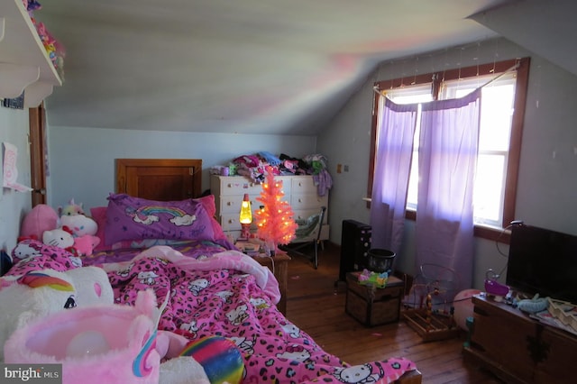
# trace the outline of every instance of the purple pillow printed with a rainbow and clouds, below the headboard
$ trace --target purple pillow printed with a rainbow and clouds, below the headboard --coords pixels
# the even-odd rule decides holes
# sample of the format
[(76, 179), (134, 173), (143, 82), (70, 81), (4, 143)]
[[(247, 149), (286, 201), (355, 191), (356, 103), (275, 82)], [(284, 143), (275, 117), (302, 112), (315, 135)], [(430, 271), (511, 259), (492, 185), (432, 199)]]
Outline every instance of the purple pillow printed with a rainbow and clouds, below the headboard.
[(106, 207), (106, 245), (123, 240), (213, 240), (205, 207), (193, 199), (155, 201), (110, 194)]

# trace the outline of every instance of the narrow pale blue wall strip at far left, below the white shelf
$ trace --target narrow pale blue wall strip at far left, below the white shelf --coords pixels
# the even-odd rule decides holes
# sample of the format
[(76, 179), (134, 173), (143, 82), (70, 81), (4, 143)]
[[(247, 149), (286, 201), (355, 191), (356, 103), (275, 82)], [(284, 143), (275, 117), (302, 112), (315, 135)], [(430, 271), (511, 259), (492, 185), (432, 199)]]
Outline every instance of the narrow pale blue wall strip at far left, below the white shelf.
[[(18, 148), (17, 181), (30, 186), (30, 152), (28, 147), (28, 110), (8, 109), (0, 107), (0, 144), (9, 142)], [(4, 145), (0, 146), (1, 163), (4, 166)], [(0, 167), (0, 179), (4, 178), (3, 167)], [(29, 192), (16, 192), (10, 188), (2, 188), (0, 194), (0, 248), (9, 254), (16, 245), (20, 234), (20, 223), (23, 215), (32, 207), (32, 197)]]

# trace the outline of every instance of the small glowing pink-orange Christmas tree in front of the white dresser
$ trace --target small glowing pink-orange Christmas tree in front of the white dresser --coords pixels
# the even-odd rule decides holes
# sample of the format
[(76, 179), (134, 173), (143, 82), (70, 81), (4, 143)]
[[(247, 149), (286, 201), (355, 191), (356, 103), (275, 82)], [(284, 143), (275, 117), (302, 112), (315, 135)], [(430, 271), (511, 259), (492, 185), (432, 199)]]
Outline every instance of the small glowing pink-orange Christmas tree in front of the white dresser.
[(261, 196), (256, 198), (262, 203), (261, 209), (256, 211), (254, 216), (257, 235), (265, 242), (272, 242), (274, 251), (279, 244), (288, 244), (294, 239), (297, 230), (292, 208), (282, 200), (284, 195), (282, 181), (276, 180), (273, 169), (267, 167)]

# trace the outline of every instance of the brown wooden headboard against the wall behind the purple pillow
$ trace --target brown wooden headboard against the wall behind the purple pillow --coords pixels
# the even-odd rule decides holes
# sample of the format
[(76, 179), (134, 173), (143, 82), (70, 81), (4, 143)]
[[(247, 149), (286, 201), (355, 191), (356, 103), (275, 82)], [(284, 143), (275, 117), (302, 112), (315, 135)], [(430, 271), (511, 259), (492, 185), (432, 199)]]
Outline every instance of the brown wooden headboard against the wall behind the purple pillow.
[(116, 193), (169, 201), (200, 197), (202, 160), (116, 159)]

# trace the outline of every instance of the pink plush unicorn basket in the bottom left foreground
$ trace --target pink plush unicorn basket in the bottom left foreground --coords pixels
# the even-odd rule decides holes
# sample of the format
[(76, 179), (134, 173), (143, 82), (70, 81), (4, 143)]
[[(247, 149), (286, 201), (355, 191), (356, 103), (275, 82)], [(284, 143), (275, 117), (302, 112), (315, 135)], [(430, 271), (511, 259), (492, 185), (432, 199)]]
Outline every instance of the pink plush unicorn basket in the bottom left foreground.
[(61, 363), (63, 383), (158, 383), (158, 310), (151, 290), (134, 306), (89, 306), (18, 329), (5, 343), (7, 363)]

